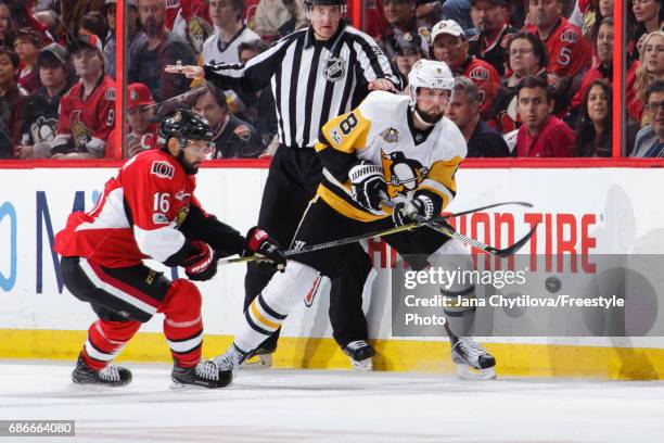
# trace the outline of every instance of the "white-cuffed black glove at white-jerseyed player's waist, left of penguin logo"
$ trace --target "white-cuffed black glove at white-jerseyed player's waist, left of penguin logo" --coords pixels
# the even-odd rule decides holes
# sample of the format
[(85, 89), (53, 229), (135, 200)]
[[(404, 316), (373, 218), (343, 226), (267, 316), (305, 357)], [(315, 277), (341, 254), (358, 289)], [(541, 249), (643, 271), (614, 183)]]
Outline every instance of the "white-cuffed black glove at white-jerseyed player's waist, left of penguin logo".
[(380, 166), (362, 160), (348, 170), (353, 186), (353, 200), (371, 214), (381, 215), (381, 200), (387, 194), (387, 185)]

